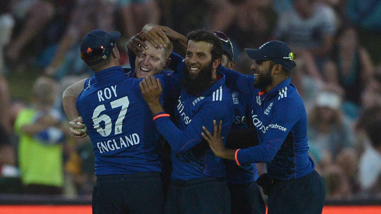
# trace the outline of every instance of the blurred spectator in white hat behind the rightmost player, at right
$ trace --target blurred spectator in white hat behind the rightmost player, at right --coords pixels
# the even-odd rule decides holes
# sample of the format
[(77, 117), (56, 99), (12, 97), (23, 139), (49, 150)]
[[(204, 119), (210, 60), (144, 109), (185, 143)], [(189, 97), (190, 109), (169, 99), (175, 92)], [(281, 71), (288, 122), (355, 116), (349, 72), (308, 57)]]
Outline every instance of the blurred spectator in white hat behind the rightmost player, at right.
[(341, 111), (341, 94), (341, 89), (333, 86), (323, 89), (309, 112), (309, 145), (315, 147), (312, 156), (323, 166), (330, 164), (341, 149), (352, 146), (350, 125)]

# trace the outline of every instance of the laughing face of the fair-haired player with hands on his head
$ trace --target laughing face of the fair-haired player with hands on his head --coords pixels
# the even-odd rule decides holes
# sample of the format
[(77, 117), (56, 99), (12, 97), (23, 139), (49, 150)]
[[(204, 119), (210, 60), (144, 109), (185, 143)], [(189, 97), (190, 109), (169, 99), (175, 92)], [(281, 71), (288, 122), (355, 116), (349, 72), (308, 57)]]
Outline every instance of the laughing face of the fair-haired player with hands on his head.
[(165, 50), (163, 48), (155, 48), (149, 42), (146, 42), (148, 50), (143, 57), (136, 56), (136, 78), (145, 78), (148, 75), (155, 75), (161, 73), (166, 59)]

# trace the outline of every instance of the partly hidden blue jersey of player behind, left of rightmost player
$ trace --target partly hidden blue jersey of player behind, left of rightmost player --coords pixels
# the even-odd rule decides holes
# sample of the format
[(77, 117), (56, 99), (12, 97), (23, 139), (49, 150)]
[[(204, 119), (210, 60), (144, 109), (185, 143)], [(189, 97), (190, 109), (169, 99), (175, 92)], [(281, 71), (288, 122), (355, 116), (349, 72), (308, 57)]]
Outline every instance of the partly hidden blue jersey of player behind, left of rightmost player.
[[(228, 89), (232, 94), (234, 104), (234, 122), (233, 129), (247, 129), (251, 125), (251, 101), (252, 97), (238, 93), (232, 89)], [(239, 149), (227, 146), (228, 149)], [(226, 181), (229, 184), (242, 184), (254, 182), (258, 179), (258, 172), (255, 163), (242, 164), (238, 166), (235, 161), (225, 160)]]

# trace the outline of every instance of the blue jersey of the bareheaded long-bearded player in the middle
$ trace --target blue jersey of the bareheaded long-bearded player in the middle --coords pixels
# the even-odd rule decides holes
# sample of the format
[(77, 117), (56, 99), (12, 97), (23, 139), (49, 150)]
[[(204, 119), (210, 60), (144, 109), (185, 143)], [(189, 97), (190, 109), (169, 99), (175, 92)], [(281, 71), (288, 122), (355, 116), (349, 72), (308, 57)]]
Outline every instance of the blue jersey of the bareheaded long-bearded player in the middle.
[[(171, 58), (176, 61), (179, 56), (173, 57), (172, 54)], [(184, 60), (177, 62), (177, 66), (171, 69), (182, 72)], [(189, 95), (185, 90), (181, 90), (174, 115), (176, 125), (168, 117), (155, 120), (158, 132), (171, 145), (171, 178), (174, 180), (226, 175), (223, 160), (215, 157), (201, 136), (202, 126), (213, 132), (213, 120), (223, 121), (222, 135), (226, 136), (234, 119), (232, 96), (224, 85), (224, 75), (219, 73), (219, 77), (198, 96)]]

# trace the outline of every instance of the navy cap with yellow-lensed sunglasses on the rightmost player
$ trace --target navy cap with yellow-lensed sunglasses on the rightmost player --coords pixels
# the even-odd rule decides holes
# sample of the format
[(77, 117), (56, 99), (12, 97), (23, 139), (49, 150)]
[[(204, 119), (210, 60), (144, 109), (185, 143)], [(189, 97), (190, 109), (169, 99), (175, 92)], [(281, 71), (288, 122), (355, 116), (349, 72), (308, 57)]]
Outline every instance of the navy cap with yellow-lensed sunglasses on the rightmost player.
[(276, 64), (282, 65), (284, 70), (290, 72), (295, 66), (295, 54), (287, 43), (272, 40), (264, 43), (258, 49), (245, 49), (247, 55), (254, 60), (268, 61), (272, 60)]

